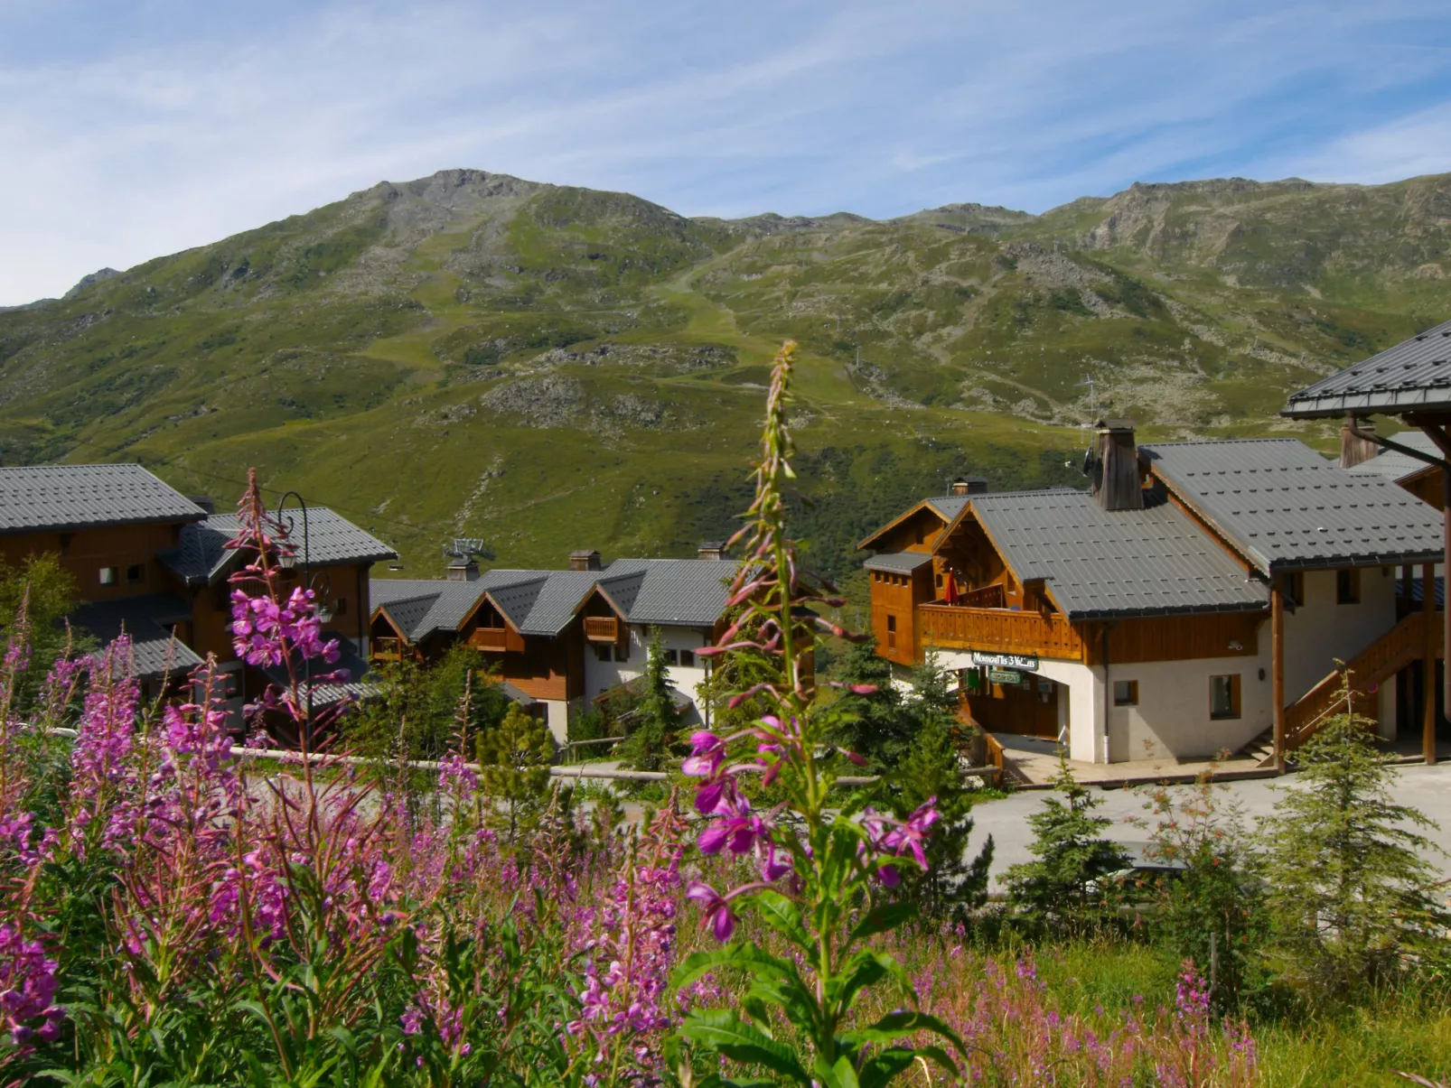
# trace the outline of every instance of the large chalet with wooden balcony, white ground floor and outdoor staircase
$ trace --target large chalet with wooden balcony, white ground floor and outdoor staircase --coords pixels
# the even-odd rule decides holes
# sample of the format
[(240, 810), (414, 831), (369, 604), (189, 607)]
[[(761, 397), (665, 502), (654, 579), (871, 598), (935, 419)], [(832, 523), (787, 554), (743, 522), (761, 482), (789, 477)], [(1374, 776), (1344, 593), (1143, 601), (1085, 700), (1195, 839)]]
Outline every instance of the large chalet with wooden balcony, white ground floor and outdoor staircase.
[(1383, 730), (1405, 721), (1419, 689), (1386, 680), (1428, 650), (1396, 574), (1438, 553), (1426, 503), (1294, 440), (1140, 447), (1126, 421), (1087, 469), (1084, 492), (958, 487), (862, 541), (878, 653), (936, 651), (972, 720), (1075, 760), (1283, 756), (1335, 659)]

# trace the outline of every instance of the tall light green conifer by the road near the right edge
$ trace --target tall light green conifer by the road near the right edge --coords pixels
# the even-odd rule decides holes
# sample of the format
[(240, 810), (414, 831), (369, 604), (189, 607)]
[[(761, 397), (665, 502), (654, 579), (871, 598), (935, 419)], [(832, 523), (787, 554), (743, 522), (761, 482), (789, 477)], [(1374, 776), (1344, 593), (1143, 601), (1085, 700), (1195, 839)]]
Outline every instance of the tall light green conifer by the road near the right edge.
[(1392, 799), (1394, 770), (1371, 744), (1374, 722), (1345, 711), (1299, 751), (1294, 789), (1264, 830), (1268, 908), (1281, 976), (1320, 994), (1349, 994), (1393, 976), (1439, 939), (1448, 918), (1435, 847), (1412, 828), (1436, 824)]

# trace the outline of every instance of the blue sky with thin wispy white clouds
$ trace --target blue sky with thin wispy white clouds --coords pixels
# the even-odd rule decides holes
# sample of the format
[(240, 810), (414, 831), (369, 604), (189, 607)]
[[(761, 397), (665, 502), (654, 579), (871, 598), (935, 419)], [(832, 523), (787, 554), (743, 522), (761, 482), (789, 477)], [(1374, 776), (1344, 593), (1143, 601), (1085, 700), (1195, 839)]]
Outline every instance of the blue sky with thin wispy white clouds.
[(472, 167), (683, 215), (1451, 171), (1445, 0), (0, 0), (0, 305)]

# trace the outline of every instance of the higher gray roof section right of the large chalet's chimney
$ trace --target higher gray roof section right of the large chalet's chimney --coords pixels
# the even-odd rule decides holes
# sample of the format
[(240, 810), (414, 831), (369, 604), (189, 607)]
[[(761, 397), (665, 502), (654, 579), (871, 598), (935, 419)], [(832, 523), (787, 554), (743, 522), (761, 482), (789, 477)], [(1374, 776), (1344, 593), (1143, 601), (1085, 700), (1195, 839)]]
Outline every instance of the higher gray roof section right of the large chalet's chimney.
[(1351, 474), (1294, 438), (1139, 447), (1180, 499), (1261, 572), (1425, 563), (1441, 514), (1373, 474)]

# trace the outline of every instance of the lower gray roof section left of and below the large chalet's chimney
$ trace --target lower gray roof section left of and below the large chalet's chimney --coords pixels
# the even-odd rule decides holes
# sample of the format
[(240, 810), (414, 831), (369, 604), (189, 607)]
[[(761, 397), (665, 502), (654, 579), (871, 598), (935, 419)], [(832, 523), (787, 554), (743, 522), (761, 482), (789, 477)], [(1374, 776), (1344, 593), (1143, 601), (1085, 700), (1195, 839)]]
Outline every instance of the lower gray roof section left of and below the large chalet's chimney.
[(1207, 532), (1168, 502), (1104, 511), (1087, 492), (1052, 489), (972, 496), (972, 511), (1024, 582), (1043, 579), (1072, 619), (1265, 606)]

